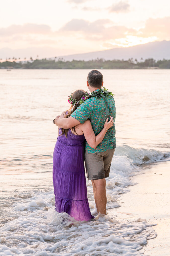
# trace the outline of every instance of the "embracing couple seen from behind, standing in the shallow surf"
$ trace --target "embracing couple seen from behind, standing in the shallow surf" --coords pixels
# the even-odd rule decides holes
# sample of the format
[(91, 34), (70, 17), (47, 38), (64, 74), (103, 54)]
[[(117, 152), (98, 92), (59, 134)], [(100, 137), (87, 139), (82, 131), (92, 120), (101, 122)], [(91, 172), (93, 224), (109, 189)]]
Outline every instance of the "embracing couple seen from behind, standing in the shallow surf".
[(58, 139), (53, 153), (55, 209), (75, 220), (94, 218), (89, 209), (85, 168), (93, 185), (97, 212), (106, 215), (106, 180), (116, 148), (116, 108), (113, 94), (97, 70), (89, 72), (87, 87), (69, 96), (71, 107), (57, 116)]

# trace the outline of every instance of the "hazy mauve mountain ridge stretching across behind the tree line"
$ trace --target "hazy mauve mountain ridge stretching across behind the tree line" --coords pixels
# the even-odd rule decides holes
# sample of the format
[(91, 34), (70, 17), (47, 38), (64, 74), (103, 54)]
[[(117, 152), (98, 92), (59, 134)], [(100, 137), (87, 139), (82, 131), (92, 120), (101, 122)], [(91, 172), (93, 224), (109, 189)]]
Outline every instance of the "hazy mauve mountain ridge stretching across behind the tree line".
[[(76, 51), (76, 49), (74, 49)], [(0, 49), (0, 58), (5, 59), (12, 59), (13, 57), (17, 57), (17, 61), (24, 60), (27, 57), (27, 60), (30, 60), (30, 57), (33, 59), (39, 56), (39, 59), (51, 59), (57, 60), (58, 58), (63, 58), (64, 60), (72, 61), (74, 60), (95, 60), (97, 58), (104, 59), (104, 60), (128, 60), (133, 58), (134, 60), (137, 59), (138, 61), (143, 58), (143, 60), (148, 58), (153, 58), (156, 61), (162, 59), (170, 59), (170, 41), (155, 41), (150, 42), (147, 44), (136, 45), (131, 47), (120, 47), (120, 48), (113, 48), (110, 50), (103, 50), (103, 51), (96, 51), (96, 52), (87, 52), (83, 54), (72, 54), (67, 55), (67, 50), (62, 54), (64, 51), (51, 48), (51, 47), (30, 47), (24, 49), (10, 49), (10, 48), (1, 48)], [(58, 56), (54, 58), (54, 56)]]

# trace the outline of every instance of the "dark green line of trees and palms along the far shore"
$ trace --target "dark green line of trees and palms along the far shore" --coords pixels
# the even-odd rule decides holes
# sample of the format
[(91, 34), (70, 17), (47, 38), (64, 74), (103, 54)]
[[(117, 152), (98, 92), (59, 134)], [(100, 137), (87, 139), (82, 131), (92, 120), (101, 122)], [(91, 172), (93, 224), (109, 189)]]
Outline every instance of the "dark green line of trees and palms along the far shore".
[(96, 59), (89, 61), (65, 61), (64, 59), (56, 58), (33, 60), (31, 61), (5, 61), (0, 62), (0, 68), (14, 68), (14, 69), (170, 69), (170, 60), (158, 60), (141, 58), (140, 61), (137, 59), (129, 60), (104, 60)]

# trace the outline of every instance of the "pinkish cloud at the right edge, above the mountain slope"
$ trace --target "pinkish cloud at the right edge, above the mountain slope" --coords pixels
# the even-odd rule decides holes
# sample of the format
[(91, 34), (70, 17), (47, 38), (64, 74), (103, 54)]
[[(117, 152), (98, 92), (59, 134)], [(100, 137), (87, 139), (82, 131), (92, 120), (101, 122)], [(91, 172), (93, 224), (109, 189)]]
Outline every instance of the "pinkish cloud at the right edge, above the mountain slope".
[(139, 30), (140, 36), (156, 36), (160, 40), (170, 40), (170, 17), (148, 19), (145, 28)]

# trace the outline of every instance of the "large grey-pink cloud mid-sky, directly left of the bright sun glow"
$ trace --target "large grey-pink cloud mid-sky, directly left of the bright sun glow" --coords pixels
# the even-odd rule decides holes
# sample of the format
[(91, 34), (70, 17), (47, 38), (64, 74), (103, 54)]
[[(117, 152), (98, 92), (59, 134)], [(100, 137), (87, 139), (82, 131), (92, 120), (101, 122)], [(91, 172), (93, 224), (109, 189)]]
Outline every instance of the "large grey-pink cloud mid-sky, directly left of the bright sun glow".
[(72, 19), (60, 29), (60, 32), (66, 31), (82, 33), (88, 40), (116, 39), (137, 34), (135, 29), (114, 26), (114, 23), (109, 19), (100, 19), (91, 23), (83, 19)]

